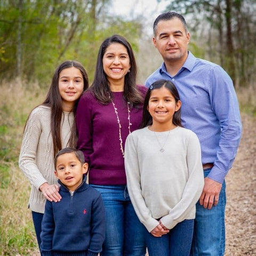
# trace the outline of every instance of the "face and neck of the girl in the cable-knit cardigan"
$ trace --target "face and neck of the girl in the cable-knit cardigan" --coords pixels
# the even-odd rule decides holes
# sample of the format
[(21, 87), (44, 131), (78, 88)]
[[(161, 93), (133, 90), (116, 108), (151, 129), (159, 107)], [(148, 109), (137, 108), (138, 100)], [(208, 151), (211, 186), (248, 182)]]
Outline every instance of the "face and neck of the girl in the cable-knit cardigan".
[(65, 68), (59, 75), (59, 91), (62, 109), (71, 111), (84, 89), (84, 79), (78, 68)]

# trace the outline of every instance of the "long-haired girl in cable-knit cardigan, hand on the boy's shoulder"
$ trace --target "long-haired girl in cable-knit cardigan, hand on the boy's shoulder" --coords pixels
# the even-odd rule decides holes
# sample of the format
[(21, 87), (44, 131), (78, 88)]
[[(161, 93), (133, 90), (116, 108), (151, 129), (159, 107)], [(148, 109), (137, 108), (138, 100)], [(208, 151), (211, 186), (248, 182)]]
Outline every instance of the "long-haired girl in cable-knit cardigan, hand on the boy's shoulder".
[(25, 126), (19, 166), (31, 183), (29, 208), (32, 211), (38, 246), (46, 199), (61, 199), (54, 175), (54, 156), (67, 146), (76, 147), (74, 117), (77, 102), (88, 88), (84, 67), (65, 61), (55, 70), (45, 101), (34, 108)]

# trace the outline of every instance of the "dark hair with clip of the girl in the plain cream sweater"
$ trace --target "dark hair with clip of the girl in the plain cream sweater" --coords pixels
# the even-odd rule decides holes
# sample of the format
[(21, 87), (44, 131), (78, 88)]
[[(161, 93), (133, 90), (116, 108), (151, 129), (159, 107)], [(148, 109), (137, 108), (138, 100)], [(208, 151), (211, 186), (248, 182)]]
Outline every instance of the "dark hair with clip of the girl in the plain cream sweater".
[[(176, 86), (171, 81), (165, 80), (165, 79), (159, 79), (156, 82), (154, 82), (153, 84), (151, 84), (149, 86), (148, 91), (145, 96), (144, 105), (143, 105), (143, 116), (142, 116), (142, 122), (141, 122), (140, 128), (143, 128), (143, 127), (153, 124), (153, 119), (148, 111), (148, 103), (149, 103), (151, 91), (153, 91), (155, 89), (160, 89), (162, 87), (165, 87), (166, 89), (168, 89), (170, 91), (170, 93), (173, 95), (176, 103), (180, 100), (179, 92), (178, 92)], [(172, 118), (172, 123), (174, 125), (183, 127), (181, 124), (180, 116), (181, 116), (181, 108), (174, 113), (173, 118)]]

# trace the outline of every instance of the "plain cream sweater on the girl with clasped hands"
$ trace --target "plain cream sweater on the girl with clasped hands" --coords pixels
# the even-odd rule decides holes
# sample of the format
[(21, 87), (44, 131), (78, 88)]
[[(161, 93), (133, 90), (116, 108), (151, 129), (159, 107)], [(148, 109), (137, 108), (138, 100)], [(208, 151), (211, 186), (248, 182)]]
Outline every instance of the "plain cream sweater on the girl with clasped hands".
[[(145, 127), (132, 132), (125, 143), (129, 195), (149, 232), (159, 224), (157, 219), (169, 229), (194, 219), (204, 185), (196, 134), (179, 126), (168, 133), (154, 133)], [(165, 151), (161, 152), (163, 145)]]

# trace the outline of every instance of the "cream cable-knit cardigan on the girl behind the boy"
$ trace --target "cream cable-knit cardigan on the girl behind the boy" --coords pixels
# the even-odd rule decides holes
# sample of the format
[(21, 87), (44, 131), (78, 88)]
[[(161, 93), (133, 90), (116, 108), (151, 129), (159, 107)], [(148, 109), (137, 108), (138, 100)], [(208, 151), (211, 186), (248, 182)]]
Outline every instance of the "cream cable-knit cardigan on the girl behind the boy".
[[(68, 146), (73, 122), (73, 113), (63, 112), (61, 119), (63, 148)], [(31, 183), (28, 207), (34, 212), (44, 213), (46, 198), (39, 187), (45, 182), (50, 185), (57, 184), (54, 175), (50, 107), (38, 106), (31, 112), (23, 135), (19, 166)]]

